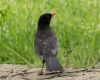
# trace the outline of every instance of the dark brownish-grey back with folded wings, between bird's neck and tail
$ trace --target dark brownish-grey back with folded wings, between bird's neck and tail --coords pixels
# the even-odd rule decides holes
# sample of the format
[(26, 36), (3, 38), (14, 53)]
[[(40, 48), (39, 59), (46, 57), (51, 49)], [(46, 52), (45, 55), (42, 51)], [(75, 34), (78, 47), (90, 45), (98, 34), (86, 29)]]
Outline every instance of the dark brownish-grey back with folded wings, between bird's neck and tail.
[(58, 41), (55, 33), (51, 30), (37, 30), (35, 35), (35, 49), (38, 55), (52, 56), (56, 55), (58, 49)]

